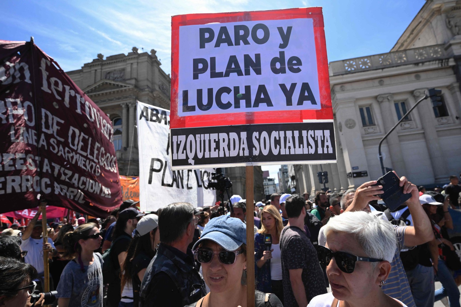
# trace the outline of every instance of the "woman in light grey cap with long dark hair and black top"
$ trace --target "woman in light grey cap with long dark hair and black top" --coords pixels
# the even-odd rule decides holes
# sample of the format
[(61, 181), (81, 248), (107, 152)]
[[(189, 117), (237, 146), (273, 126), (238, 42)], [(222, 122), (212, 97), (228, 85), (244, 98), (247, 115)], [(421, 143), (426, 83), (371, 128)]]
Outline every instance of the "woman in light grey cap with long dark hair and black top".
[[(159, 217), (156, 214), (143, 216), (136, 226), (135, 233), (122, 266), (122, 300), (119, 307), (139, 306), (141, 282), (160, 243)], [(131, 293), (127, 292), (128, 289), (132, 289)], [(128, 295), (132, 297), (131, 300), (126, 298)]]

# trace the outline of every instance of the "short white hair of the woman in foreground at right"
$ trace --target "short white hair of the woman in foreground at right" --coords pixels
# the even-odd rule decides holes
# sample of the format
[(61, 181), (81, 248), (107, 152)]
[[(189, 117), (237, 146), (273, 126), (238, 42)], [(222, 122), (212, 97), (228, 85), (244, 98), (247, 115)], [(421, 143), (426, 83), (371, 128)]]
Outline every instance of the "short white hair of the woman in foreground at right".
[[(381, 215), (365, 211), (335, 215), (324, 226), (325, 237), (331, 231), (354, 234), (367, 257), (391, 262), (396, 254), (397, 237), (392, 224)], [(372, 264), (376, 266), (376, 262)]]

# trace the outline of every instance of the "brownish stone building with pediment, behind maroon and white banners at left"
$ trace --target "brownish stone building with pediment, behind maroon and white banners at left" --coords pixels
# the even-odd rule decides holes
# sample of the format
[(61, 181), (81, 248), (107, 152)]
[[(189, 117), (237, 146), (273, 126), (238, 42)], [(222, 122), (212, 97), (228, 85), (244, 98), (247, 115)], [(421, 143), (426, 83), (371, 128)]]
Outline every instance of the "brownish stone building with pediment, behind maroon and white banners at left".
[[(127, 55), (121, 53), (104, 59), (98, 54), (81, 69), (66, 72), (112, 120), (120, 175), (139, 175), (136, 100), (170, 110), (171, 78), (160, 68), (155, 53), (154, 49), (148, 53), (133, 47)], [(223, 172), (233, 183), (231, 193), (245, 198), (245, 168), (224, 168)], [(263, 197), (262, 170), (254, 167), (254, 198)]]

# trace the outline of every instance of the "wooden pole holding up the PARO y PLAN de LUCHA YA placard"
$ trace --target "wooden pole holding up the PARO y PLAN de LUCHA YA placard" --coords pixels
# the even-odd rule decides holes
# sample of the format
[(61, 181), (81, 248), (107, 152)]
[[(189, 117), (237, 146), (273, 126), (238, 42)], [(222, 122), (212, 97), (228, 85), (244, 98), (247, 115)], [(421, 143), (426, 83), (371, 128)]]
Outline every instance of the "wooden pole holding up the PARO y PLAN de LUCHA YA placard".
[(246, 167), (247, 191), (247, 307), (254, 307), (253, 166)]

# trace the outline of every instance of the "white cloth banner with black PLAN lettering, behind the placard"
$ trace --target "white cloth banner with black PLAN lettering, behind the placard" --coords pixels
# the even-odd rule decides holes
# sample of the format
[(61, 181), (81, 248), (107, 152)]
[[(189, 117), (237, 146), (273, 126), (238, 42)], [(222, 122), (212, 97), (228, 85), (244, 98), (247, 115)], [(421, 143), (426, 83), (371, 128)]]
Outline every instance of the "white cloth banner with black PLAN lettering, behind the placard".
[(208, 189), (213, 168), (171, 170), (170, 111), (138, 101), (136, 115), (141, 210), (153, 211), (177, 202), (214, 206), (216, 191)]

